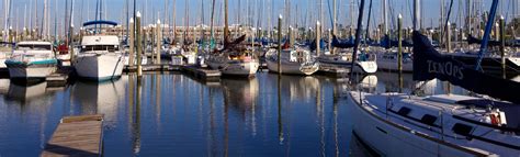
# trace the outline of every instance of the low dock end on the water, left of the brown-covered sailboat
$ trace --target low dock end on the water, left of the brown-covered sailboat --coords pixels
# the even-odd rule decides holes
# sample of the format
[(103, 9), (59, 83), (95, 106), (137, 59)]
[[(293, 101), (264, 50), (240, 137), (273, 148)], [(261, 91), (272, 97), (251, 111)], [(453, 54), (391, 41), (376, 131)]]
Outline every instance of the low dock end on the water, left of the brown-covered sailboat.
[(199, 68), (195, 66), (181, 66), (181, 71), (205, 81), (219, 81), (222, 72), (207, 68)]

